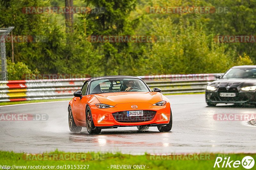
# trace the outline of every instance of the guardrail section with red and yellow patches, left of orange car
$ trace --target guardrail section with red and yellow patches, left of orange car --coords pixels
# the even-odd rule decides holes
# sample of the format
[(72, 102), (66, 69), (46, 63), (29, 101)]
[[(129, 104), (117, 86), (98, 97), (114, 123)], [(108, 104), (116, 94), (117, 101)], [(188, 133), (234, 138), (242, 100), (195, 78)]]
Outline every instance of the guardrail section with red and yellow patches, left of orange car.
[(0, 81), (0, 102), (71, 98), (87, 79)]

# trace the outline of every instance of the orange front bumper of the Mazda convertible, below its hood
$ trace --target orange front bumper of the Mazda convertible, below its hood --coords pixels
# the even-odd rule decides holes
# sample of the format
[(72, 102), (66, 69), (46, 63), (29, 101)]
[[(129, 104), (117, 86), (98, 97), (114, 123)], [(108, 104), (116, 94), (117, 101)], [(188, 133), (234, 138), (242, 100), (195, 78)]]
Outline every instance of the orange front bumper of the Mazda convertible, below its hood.
[[(132, 105), (137, 105), (138, 108), (132, 109)], [(117, 119), (116, 116), (113, 116), (114, 114), (119, 114), (119, 112), (125, 113), (126, 111), (132, 111), (132, 110), (143, 110), (144, 112), (144, 118), (138, 117), (127, 117), (127, 115), (120, 114), (121, 118), (124, 118), (124, 120), (131, 120), (131, 121), (124, 121), (120, 122)], [(117, 104), (115, 107), (112, 108), (106, 108), (106, 109), (99, 109), (97, 106), (91, 106), (92, 111), (92, 117), (93, 122), (96, 127), (102, 127), (102, 128), (108, 128), (108, 127), (124, 127), (124, 126), (140, 126), (140, 125), (148, 125), (148, 126), (158, 126), (158, 125), (166, 125), (170, 121), (171, 117), (171, 108), (170, 103), (166, 103), (165, 106), (154, 106), (150, 103), (122, 103)], [(146, 119), (148, 116), (146, 115), (147, 111), (154, 111), (155, 115), (152, 116), (149, 119)], [(165, 118), (164, 118), (164, 116)], [(104, 117), (102, 119), (102, 117)], [(167, 119), (166, 119), (167, 118)], [(122, 119), (123, 120), (123, 119)], [(144, 121), (142, 121), (144, 120)], [(145, 121), (146, 120), (146, 121)]]

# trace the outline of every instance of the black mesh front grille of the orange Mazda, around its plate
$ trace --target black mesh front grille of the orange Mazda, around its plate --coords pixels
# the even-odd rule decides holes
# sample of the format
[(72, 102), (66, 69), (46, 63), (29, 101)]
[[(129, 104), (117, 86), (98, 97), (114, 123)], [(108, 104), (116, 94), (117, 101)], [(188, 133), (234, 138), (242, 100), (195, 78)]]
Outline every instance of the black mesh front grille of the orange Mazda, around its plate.
[(155, 117), (156, 111), (143, 110), (143, 116), (127, 117), (127, 111), (119, 111), (116, 113), (112, 113), (112, 115), (117, 122), (121, 122), (121, 123), (147, 122), (152, 120)]

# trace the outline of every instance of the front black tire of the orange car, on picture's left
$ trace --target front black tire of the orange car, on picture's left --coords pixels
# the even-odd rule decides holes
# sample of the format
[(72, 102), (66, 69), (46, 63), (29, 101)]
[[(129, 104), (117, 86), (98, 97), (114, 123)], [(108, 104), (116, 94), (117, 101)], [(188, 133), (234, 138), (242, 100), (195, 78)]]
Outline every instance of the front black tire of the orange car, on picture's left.
[(94, 126), (93, 119), (92, 119), (92, 112), (89, 106), (86, 107), (85, 112), (85, 119), (86, 119), (86, 129), (89, 134), (99, 134), (101, 132), (100, 128)]

